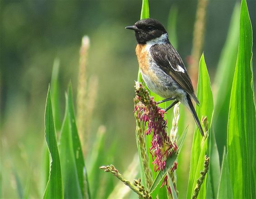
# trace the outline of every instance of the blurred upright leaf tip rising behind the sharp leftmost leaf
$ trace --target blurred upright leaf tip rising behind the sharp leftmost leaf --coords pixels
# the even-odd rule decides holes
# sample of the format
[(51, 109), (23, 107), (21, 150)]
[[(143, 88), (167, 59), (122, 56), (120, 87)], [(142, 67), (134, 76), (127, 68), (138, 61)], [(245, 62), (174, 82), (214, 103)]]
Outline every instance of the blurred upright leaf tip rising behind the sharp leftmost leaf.
[(59, 68), (60, 60), (56, 58), (52, 67), (51, 93), (52, 93), (52, 112), (56, 130), (61, 129), (60, 121), (60, 102), (59, 102)]

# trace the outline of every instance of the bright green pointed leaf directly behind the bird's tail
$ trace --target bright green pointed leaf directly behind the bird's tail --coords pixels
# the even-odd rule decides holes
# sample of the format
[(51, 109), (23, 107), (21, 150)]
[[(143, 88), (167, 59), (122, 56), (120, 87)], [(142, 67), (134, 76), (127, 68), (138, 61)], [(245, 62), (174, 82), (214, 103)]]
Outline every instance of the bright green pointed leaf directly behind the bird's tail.
[[(202, 118), (202, 116), (207, 116), (207, 120), (209, 122), (209, 132), (211, 128), (211, 122), (213, 117), (213, 95), (211, 91), (211, 83), (209, 74), (207, 71), (206, 63), (204, 61), (204, 54), (199, 62), (199, 77), (198, 77), (198, 86), (197, 86), (197, 98), (200, 102), (199, 106), (196, 106), (196, 113), (198, 118)], [(189, 184), (187, 190), (187, 198), (191, 198), (191, 193), (194, 191), (194, 181), (199, 178), (199, 175), (196, 175), (198, 171), (198, 167), (201, 168), (199, 165), (200, 161), (204, 161), (204, 155), (201, 155), (202, 160), (200, 160), (200, 154), (202, 152), (201, 148), (202, 136), (199, 132), (198, 127), (195, 127), (194, 130), (194, 137), (192, 143), (192, 150), (191, 150), (191, 161), (190, 161), (190, 177), (189, 177)], [(207, 148), (207, 142), (206, 148)], [(204, 184), (205, 185), (205, 184)], [(201, 189), (204, 190), (205, 187), (202, 185)], [(203, 192), (200, 192), (203, 193)], [(199, 194), (200, 194), (199, 193)], [(205, 193), (204, 193), (205, 194)], [(201, 197), (205, 197), (201, 196)]]

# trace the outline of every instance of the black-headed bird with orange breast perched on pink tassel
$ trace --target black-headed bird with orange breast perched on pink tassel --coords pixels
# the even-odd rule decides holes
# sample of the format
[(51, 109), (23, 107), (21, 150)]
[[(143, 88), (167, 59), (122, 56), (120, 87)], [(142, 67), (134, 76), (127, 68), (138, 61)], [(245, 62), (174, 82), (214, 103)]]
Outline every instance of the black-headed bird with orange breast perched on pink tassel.
[(125, 27), (135, 32), (136, 55), (142, 79), (147, 87), (165, 100), (174, 102), (165, 109), (171, 109), (181, 102), (192, 113), (200, 133), (203, 128), (194, 109), (192, 100), (199, 105), (187, 69), (175, 48), (171, 45), (166, 28), (156, 19), (141, 19), (132, 26)]

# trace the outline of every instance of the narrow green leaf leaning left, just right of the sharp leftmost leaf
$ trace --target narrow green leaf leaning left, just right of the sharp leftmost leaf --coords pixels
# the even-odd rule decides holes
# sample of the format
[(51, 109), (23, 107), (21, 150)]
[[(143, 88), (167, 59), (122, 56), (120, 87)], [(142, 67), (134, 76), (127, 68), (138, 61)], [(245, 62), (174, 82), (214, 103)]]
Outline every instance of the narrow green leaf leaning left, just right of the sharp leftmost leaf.
[(76, 118), (74, 113), (74, 103), (73, 103), (71, 84), (69, 85), (69, 88), (68, 88), (67, 104), (68, 104), (67, 114), (69, 118), (69, 128), (71, 131), (72, 147), (73, 147), (73, 153), (75, 157), (79, 185), (81, 188), (82, 196), (85, 198), (90, 198), (89, 183), (88, 183), (87, 174), (86, 174), (87, 170), (85, 168), (85, 161), (83, 157), (81, 142), (80, 142), (79, 135), (77, 132), (77, 127), (76, 127)]

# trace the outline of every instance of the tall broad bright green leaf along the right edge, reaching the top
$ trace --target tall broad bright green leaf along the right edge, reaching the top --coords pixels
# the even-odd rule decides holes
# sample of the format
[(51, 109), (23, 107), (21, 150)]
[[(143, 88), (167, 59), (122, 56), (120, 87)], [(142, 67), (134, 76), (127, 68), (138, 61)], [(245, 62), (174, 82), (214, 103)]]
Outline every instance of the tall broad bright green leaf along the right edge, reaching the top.
[(228, 165), (234, 198), (256, 198), (256, 110), (251, 59), (251, 20), (246, 0), (242, 0), (228, 116)]

